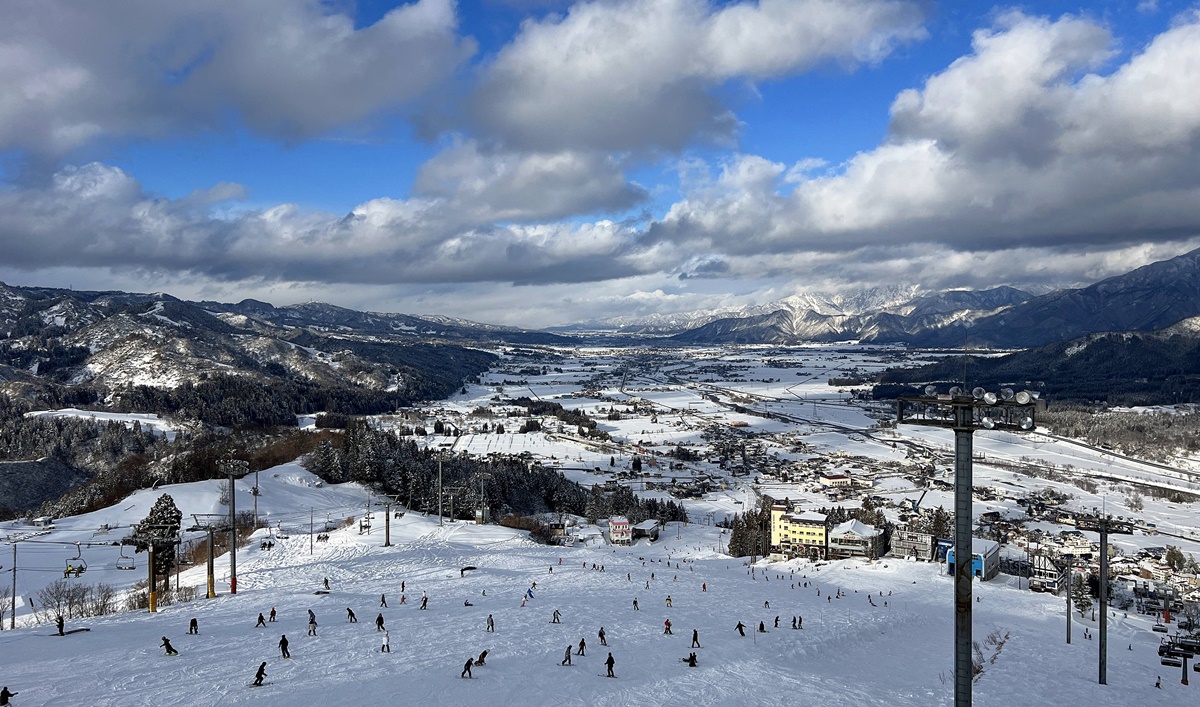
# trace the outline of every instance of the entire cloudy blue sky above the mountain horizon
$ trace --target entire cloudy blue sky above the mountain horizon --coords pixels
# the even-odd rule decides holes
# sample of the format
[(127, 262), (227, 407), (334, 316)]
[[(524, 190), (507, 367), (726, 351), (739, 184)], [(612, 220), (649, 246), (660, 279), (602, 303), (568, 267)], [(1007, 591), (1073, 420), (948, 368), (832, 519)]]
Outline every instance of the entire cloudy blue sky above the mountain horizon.
[(0, 7), (0, 280), (547, 326), (1200, 246), (1190, 2)]

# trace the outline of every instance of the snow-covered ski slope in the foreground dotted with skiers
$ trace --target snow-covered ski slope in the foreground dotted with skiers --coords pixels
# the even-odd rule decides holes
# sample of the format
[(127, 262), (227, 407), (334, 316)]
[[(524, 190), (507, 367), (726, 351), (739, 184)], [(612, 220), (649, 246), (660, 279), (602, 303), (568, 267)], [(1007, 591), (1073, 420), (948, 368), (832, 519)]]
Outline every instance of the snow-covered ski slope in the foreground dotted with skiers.
[[(290, 465), (264, 472), (260, 511), (268, 505), (275, 516), (299, 525), (300, 516), (307, 521), (310, 505), (340, 504), (348, 514), (365, 501), (359, 487), (316, 487), (304, 474)], [(268, 487), (268, 479), (277, 487)], [(196, 484), (168, 490), (185, 507), (203, 503), (212, 489)], [(134, 522), (155, 497), (142, 492), (136, 503), (127, 501), (78, 525), (90, 527), (101, 519)], [(244, 498), (242, 490), (239, 508)], [(743, 561), (714, 552), (716, 529), (706, 526), (671, 525), (659, 541), (632, 547), (547, 547), (497, 526), (457, 522), (439, 528), (436, 517), (416, 513), (392, 521), (392, 546), (384, 547), (380, 521), (377, 515), (370, 535), (359, 534), (356, 526), (334, 531), (328, 543), (313, 544), (312, 555), (306, 533), (277, 539), (270, 551), (252, 543), (239, 553), (236, 595), (228, 594), (228, 559), (221, 558), (217, 599), (164, 606), (156, 615), (72, 621), (67, 629), (91, 630), (66, 637), (54, 636), (53, 624), (0, 633), (0, 684), (20, 693), (14, 701), (19, 706), (953, 701), (953, 588), (950, 577), (937, 574), (941, 565), (847, 561), (817, 569), (796, 562), (760, 565), (751, 576)], [(60, 527), (71, 525), (71, 519), (60, 521)], [(138, 561), (144, 571), (144, 556)], [(593, 570), (593, 564), (602, 564), (604, 571)], [(478, 569), (461, 576), (467, 565)], [(182, 583), (203, 585), (203, 571), (187, 570)], [(330, 593), (316, 594), (325, 577)], [(25, 573), (19, 580), (24, 593)], [(533, 582), (534, 598), (522, 607)], [(804, 582), (810, 586), (804, 588)], [(844, 595), (828, 599), (839, 588)], [(426, 611), (418, 609), (422, 592), (430, 598)], [(994, 630), (1009, 635), (976, 683), (978, 705), (1194, 705), (1200, 695), (1200, 687), (1180, 685), (1178, 669), (1159, 665), (1159, 635), (1146, 617), (1118, 612), (1111, 619), (1109, 684), (1102, 687), (1096, 679), (1098, 642), (1082, 637), (1082, 625), (1094, 634), (1094, 623), (1076, 624), (1068, 646), (1058, 598), (1018, 591), (1003, 579), (977, 583), (976, 592), (982, 598), (976, 604), (977, 640), (984, 643)], [(379, 609), (382, 593), (388, 609)], [(870, 594), (876, 606), (868, 601)], [(635, 598), (640, 611), (632, 610)], [(473, 606), (463, 605), (468, 600)], [(258, 613), (272, 606), (278, 621), (254, 628)], [(347, 622), (347, 607), (359, 623)], [(310, 609), (319, 623), (317, 637), (305, 635)], [(556, 609), (563, 613), (562, 624), (550, 623)], [(390, 654), (379, 651), (378, 612), (390, 631)], [(488, 613), (496, 633), (485, 631)], [(803, 616), (803, 630), (791, 629), (797, 615)], [(192, 617), (199, 621), (199, 635), (187, 634)], [(671, 636), (662, 634), (667, 618)], [(739, 621), (748, 627), (745, 637), (734, 631)], [(768, 633), (755, 631), (760, 622)], [(607, 648), (599, 645), (600, 627)], [(680, 659), (692, 651), (692, 629), (703, 647), (695, 649), (698, 666), (689, 669)], [(280, 658), (282, 634), (290, 642), (292, 660)], [(162, 636), (172, 640), (179, 657), (163, 654)], [(575, 657), (571, 667), (559, 666), (565, 647), (577, 646), (580, 639), (587, 640), (587, 654)], [(486, 666), (475, 667), (472, 679), (460, 678), (463, 661), (484, 649)], [(602, 677), (608, 651), (617, 679)], [(994, 649), (984, 651), (990, 659)], [(270, 684), (250, 688), (263, 660)], [(1157, 676), (1163, 676), (1162, 690), (1153, 687)]]

